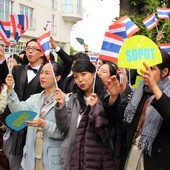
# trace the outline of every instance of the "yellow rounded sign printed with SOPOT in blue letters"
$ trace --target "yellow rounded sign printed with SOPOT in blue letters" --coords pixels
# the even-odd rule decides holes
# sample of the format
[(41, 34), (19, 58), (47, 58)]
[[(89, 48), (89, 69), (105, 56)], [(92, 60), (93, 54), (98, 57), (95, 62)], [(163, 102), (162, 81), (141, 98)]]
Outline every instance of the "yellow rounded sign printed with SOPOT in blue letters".
[(135, 35), (122, 45), (118, 56), (118, 67), (144, 69), (143, 62), (149, 66), (162, 63), (161, 52), (151, 39)]

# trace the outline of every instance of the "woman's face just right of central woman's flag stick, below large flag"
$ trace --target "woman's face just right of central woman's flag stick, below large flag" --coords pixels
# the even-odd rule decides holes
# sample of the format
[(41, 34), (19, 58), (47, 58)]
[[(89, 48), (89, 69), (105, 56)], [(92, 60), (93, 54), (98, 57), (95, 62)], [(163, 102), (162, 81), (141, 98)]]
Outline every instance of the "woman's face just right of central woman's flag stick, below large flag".
[(102, 79), (103, 82), (106, 82), (110, 77), (110, 69), (108, 64), (103, 64), (98, 71), (99, 77)]

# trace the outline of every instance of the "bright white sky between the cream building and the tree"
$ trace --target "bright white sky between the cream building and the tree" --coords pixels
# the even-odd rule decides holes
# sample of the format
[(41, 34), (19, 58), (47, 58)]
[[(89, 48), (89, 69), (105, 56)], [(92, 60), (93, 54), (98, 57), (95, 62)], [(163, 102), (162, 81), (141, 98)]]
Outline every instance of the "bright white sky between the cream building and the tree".
[(83, 51), (76, 37), (83, 38), (89, 51), (100, 52), (104, 33), (119, 16), (119, 0), (83, 0), (83, 19), (72, 27), (70, 43), (77, 51)]

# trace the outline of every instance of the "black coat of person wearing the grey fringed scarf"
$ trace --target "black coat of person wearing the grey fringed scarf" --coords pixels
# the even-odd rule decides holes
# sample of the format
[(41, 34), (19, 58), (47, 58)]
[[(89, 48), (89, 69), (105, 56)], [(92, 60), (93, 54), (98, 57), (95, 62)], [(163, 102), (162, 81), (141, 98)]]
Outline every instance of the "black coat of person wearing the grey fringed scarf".
[[(125, 160), (129, 153), (129, 150), (132, 145), (132, 139), (136, 130), (136, 126), (138, 124), (140, 118), (140, 110), (142, 109), (142, 103), (146, 100), (146, 96), (143, 96), (141, 103), (139, 104), (139, 108), (136, 111), (133, 122), (129, 127), (127, 127), (126, 134), (126, 154), (124, 159), (122, 160), (122, 167), (120, 169), (124, 169)], [(163, 117), (163, 123), (161, 128), (156, 136), (153, 145), (152, 145), (152, 153), (151, 157), (144, 153), (144, 169), (145, 170), (170, 170), (170, 98), (165, 94), (156, 101), (152, 102), (153, 107), (159, 112), (159, 114)]]

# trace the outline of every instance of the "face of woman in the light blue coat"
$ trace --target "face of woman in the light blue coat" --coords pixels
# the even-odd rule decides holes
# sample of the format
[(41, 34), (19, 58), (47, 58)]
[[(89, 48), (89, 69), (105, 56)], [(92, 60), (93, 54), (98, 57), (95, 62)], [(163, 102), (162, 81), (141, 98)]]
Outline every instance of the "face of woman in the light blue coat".
[(44, 89), (55, 87), (54, 77), (51, 71), (50, 64), (45, 64), (40, 73), (40, 85)]

